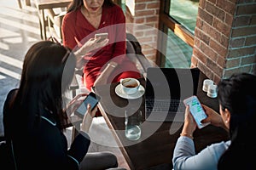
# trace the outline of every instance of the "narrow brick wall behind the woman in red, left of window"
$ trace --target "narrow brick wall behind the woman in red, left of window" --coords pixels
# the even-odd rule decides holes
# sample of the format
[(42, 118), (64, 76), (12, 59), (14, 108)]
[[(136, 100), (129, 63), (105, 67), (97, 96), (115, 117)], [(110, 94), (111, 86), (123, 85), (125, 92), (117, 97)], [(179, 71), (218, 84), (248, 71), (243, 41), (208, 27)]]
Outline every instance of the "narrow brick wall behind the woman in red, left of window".
[(143, 54), (155, 62), (160, 0), (126, 0), (127, 31), (137, 37)]

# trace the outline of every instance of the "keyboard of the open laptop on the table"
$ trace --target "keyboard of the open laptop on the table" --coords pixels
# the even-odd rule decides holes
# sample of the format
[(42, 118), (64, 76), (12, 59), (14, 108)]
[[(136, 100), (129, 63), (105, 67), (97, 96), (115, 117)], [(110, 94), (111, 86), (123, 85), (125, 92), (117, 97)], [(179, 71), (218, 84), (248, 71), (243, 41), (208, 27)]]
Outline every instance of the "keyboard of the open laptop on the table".
[[(170, 103), (171, 102), (171, 103)], [(181, 104), (179, 105), (180, 100), (179, 99), (171, 99), (171, 101), (166, 100), (154, 100), (154, 99), (147, 99), (146, 100), (146, 108), (147, 111), (160, 111), (160, 112), (166, 112), (166, 111), (179, 111), (184, 112), (186, 107), (185, 105)], [(179, 106), (179, 108), (178, 108)]]

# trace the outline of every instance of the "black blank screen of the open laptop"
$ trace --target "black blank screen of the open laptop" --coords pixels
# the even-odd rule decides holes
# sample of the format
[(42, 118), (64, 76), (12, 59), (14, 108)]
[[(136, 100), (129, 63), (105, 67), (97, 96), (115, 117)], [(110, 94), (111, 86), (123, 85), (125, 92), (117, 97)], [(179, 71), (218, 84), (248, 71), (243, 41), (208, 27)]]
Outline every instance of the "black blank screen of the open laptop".
[(159, 68), (147, 70), (145, 99), (186, 99), (197, 92), (197, 68)]

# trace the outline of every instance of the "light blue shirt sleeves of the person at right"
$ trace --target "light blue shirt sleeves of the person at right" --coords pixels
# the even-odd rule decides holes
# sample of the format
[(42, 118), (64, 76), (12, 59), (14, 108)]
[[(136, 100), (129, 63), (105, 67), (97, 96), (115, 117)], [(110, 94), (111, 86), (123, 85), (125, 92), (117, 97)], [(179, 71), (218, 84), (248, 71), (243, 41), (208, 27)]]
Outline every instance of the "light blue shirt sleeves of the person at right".
[(230, 146), (230, 140), (207, 146), (195, 155), (195, 144), (193, 139), (180, 136), (174, 148), (172, 164), (174, 170), (217, 170), (220, 156)]

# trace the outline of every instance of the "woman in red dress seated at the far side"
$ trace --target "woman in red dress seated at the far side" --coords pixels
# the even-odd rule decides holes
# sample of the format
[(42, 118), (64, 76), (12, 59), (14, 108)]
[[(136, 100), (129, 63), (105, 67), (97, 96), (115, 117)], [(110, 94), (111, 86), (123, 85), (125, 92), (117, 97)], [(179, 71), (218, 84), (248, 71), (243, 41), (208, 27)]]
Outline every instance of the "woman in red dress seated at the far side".
[[(63, 44), (74, 50), (94, 38), (96, 33), (108, 32), (108, 45), (81, 54), (83, 81), (88, 90), (95, 86), (95, 82), (119, 82), (125, 77), (141, 77), (136, 65), (125, 56), (125, 14), (112, 0), (73, 0), (67, 8), (61, 30)], [(108, 66), (110, 61), (113, 64)], [(101, 80), (97, 80), (99, 76)]]

